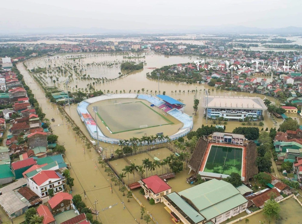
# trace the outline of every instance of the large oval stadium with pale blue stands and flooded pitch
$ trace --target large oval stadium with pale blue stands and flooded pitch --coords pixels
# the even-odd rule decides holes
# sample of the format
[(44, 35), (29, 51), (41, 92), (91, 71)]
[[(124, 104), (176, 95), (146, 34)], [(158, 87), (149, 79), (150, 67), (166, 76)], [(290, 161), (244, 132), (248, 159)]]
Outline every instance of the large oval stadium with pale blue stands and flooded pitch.
[(169, 96), (124, 93), (86, 99), (78, 103), (77, 112), (92, 138), (117, 144), (120, 139), (144, 135), (165, 135), (170, 140), (185, 136), (193, 128), (193, 119), (184, 108), (184, 103)]

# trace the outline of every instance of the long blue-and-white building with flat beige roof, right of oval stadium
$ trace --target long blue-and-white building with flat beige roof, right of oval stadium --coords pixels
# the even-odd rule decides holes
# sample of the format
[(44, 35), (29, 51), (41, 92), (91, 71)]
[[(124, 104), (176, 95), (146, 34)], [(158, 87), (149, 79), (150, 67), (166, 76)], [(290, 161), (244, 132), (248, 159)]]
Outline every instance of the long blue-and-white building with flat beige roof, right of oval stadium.
[(229, 121), (236, 121), (246, 117), (257, 120), (267, 110), (260, 97), (242, 96), (204, 96), (202, 107), (208, 118), (223, 117)]

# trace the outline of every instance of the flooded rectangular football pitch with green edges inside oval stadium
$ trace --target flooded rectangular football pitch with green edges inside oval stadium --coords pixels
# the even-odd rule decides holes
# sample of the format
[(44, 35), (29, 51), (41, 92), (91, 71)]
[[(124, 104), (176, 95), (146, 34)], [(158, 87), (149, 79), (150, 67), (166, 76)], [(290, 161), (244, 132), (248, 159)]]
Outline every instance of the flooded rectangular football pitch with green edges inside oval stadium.
[(100, 106), (97, 115), (112, 134), (117, 134), (174, 124), (160, 112), (137, 101)]

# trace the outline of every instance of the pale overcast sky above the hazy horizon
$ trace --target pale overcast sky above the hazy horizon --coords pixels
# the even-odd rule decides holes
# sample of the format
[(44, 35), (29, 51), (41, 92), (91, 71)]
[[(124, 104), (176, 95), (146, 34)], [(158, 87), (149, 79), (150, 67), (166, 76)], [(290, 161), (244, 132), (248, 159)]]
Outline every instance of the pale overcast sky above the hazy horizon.
[(266, 29), (300, 27), (302, 0), (14, 0), (2, 1), (0, 5), (0, 32), (47, 27), (188, 30), (245, 26)]

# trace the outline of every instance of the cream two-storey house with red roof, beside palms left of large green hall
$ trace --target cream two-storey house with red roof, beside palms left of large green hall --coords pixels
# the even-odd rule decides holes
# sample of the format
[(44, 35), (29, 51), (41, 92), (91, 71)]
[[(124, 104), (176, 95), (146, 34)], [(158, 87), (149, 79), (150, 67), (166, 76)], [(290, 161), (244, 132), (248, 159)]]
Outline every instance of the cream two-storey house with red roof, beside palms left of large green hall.
[(155, 203), (162, 202), (163, 196), (170, 194), (172, 189), (158, 175), (142, 179), (140, 185), (144, 189), (145, 197), (153, 198)]

